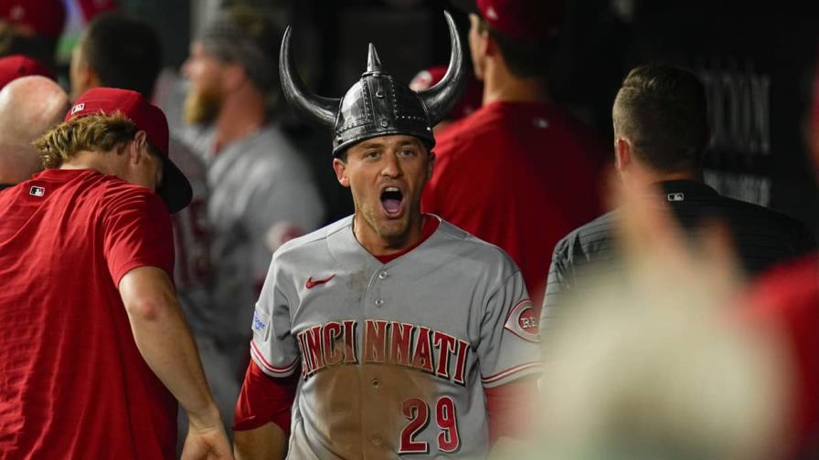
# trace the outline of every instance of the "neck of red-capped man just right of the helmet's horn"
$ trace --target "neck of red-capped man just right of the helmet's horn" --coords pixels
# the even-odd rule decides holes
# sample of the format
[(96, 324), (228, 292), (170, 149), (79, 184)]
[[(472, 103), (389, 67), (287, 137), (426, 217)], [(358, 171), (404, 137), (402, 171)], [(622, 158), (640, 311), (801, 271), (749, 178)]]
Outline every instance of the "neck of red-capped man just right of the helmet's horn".
[(549, 99), (541, 78), (518, 78), (503, 64), (487, 63), (484, 69), (484, 106), (493, 102), (540, 102)]

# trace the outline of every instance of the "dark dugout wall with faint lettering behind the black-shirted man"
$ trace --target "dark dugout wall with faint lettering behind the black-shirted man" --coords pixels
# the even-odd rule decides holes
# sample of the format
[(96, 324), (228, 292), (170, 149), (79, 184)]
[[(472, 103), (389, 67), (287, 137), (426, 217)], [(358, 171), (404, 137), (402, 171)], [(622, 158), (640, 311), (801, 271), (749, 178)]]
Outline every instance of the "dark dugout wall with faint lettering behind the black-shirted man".
[(569, 2), (552, 72), (556, 99), (611, 136), (620, 80), (641, 63), (694, 70), (707, 87), (707, 183), (819, 227), (805, 126), (817, 6), (766, 2)]

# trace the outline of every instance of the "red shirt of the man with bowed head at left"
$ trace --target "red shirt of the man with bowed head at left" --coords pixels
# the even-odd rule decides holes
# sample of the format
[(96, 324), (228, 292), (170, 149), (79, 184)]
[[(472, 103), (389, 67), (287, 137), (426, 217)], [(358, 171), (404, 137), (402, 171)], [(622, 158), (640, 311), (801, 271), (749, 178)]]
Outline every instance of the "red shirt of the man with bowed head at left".
[(144, 187), (46, 170), (0, 192), (0, 458), (173, 458), (176, 402), (133, 341), (117, 289), (174, 265)]

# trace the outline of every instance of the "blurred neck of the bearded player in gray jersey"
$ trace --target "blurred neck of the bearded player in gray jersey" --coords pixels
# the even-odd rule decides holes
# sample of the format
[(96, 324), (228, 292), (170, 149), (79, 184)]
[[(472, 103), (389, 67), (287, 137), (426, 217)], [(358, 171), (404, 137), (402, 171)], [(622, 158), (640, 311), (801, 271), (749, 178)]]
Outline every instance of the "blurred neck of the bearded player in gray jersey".
[(229, 145), (259, 131), (267, 122), (263, 95), (255, 89), (240, 89), (222, 102), (216, 120), (216, 143)]

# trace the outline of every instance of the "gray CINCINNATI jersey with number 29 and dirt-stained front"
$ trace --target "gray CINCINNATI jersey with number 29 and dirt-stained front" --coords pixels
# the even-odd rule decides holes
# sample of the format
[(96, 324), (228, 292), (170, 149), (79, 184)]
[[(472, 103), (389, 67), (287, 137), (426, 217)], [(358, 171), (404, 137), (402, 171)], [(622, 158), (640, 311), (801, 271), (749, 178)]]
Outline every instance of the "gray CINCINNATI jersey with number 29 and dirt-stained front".
[(484, 456), (484, 388), (540, 371), (520, 271), (445, 221), (382, 264), (351, 225), (277, 250), (256, 304), (252, 359), (301, 370), (289, 458)]

